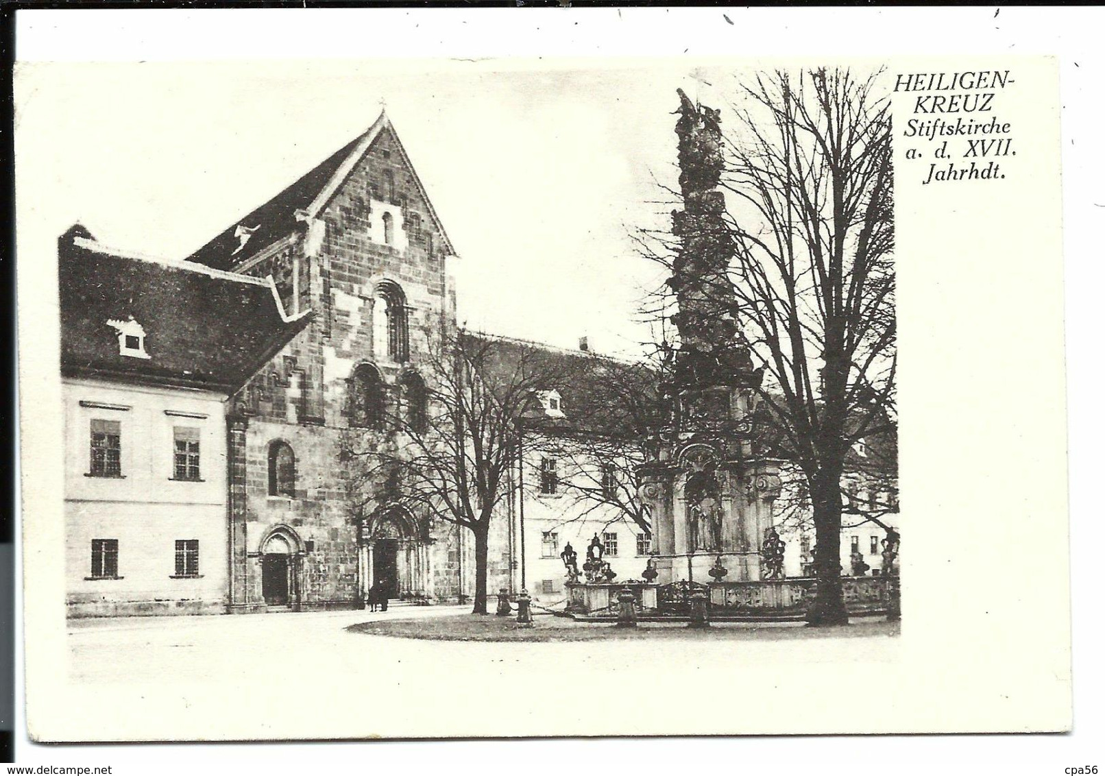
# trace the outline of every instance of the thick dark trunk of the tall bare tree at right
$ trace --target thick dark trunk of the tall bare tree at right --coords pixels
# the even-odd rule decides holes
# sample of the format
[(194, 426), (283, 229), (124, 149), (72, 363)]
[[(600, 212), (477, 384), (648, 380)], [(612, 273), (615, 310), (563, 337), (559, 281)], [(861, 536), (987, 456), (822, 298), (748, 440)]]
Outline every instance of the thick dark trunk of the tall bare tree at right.
[(813, 568), (818, 587), (806, 621), (811, 626), (848, 625), (840, 578), (840, 470), (820, 469), (810, 478), (810, 492), (817, 531)]

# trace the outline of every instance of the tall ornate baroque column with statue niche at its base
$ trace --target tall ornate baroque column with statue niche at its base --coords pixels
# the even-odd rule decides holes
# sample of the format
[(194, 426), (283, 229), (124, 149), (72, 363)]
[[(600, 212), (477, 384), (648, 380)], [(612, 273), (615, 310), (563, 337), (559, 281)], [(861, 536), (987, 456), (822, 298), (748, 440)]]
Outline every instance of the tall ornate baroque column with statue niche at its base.
[(733, 247), (717, 189), (723, 167), (719, 112), (680, 91), (680, 188), (673, 211), (680, 251), (667, 285), (678, 312), (669, 350), (665, 421), (646, 440), (640, 495), (652, 513), (657, 581), (708, 581), (716, 564), (735, 581), (761, 578), (760, 549), (779, 495), (779, 462), (753, 455), (754, 369), (733, 317)]

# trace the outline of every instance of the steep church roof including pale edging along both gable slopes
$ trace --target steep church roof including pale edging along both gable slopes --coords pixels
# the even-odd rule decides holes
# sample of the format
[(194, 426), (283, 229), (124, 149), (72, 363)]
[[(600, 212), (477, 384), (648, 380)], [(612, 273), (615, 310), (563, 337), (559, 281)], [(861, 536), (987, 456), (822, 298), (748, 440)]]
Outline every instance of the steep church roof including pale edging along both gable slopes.
[[(365, 156), (365, 153), (372, 146), (376, 138), (386, 130), (391, 132), (403, 164), (411, 171), (411, 177), (415, 186), (423, 199), (425, 199), (430, 217), (441, 231), (445, 250), (452, 253), (452, 243), (445, 234), (444, 227), (441, 224), (441, 219), (438, 218), (438, 213), (434, 211), (429, 196), (427, 196), (422, 181), (419, 180), (418, 174), (414, 172), (410, 157), (399, 140), (399, 134), (394, 130), (388, 115), (381, 112), (379, 117), (366, 132), (326, 157), (326, 159), (267, 202), (231, 223), (188, 256), (188, 261), (220, 270), (230, 269), (239, 259), (245, 259), (257, 253), (295, 230), (299, 223), (299, 218), (296, 216), (297, 212), (311, 218), (317, 217), (330, 198), (337, 192), (345, 179), (356, 168), (357, 162)], [(239, 234), (242, 233), (241, 230), (250, 233), (249, 252), (235, 255), (234, 251), (242, 245), (239, 238)]]

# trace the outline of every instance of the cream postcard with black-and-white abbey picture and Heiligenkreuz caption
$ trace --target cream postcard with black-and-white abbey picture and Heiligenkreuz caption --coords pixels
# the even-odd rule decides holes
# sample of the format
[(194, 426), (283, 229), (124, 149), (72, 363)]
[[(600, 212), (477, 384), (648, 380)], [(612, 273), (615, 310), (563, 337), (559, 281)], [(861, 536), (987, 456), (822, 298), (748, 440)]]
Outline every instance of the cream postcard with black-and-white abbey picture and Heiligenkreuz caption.
[(1053, 65), (27, 65), (32, 738), (1069, 730)]

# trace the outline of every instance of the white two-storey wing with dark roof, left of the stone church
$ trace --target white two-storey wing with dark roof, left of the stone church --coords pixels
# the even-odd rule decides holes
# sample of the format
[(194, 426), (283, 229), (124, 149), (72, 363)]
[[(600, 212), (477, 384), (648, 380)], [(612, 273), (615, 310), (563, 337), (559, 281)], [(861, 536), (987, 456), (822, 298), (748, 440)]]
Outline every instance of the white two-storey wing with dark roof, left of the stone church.
[(59, 242), (70, 616), (219, 612), (227, 400), (298, 331), (272, 283)]

